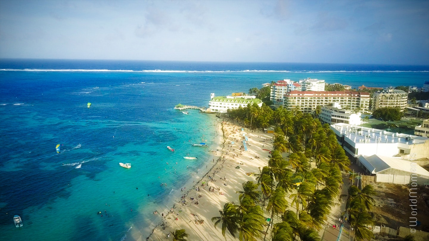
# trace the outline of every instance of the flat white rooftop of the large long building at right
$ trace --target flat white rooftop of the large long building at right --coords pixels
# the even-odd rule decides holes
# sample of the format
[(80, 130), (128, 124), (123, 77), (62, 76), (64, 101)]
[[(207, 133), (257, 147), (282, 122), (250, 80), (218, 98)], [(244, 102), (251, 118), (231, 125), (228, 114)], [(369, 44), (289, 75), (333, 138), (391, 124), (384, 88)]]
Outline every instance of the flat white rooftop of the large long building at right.
[(404, 133), (393, 133), (386, 130), (361, 127), (345, 123), (331, 125), (341, 135), (355, 143), (402, 143), (406, 145), (425, 143), (429, 138)]

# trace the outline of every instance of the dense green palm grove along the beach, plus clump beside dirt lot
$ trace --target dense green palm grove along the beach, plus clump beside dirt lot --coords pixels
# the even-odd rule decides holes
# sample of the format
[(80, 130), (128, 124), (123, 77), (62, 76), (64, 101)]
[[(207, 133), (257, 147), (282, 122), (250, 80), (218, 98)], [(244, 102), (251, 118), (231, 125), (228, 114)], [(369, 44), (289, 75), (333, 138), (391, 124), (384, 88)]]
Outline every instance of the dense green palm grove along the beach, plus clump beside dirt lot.
[[(311, 114), (282, 107), (272, 111), (266, 105), (248, 105), (228, 110), (228, 115), (249, 127), (277, 127), (268, 166), (254, 173), (256, 183), (242, 184), (243, 190), (236, 192), (239, 204), (226, 203), (219, 211), (221, 215), (212, 218), (215, 227), (221, 224), (225, 240), (228, 230), (240, 241), (261, 240), (262, 236), (265, 240), (268, 234), (272, 241), (320, 241), (318, 230), (325, 226), (338, 200), (341, 170), (348, 170), (350, 165), (335, 133)], [(283, 153), (289, 153), (288, 158)], [(372, 224), (368, 214), (372, 192), (371, 186), (363, 190), (353, 186), (347, 199), (350, 224), (359, 241), (372, 237), (366, 227)], [(263, 208), (268, 218), (263, 217)]]

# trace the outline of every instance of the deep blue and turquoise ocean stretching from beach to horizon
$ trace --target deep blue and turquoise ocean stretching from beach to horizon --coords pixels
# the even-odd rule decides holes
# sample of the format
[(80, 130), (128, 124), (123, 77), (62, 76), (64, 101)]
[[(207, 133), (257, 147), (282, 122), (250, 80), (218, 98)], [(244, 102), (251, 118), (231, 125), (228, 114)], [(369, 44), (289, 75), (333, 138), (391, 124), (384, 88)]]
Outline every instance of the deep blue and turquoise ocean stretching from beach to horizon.
[[(130, 227), (144, 239), (153, 211), (204, 173), (218, 134), (213, 114), (185, 115), (176, 104), (208, 106), (210, 93), (307, 77), (421, 87), (429, 66), (0, 60), (0, 239), (133, 240), (124, 238)], [(209, 148), (190, 145), (201, 141)]]

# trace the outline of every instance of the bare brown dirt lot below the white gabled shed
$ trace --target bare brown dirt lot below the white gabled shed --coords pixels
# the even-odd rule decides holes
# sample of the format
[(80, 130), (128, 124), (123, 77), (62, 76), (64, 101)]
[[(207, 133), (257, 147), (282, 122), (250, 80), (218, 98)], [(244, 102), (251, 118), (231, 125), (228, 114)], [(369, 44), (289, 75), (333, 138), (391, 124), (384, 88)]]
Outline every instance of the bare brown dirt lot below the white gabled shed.
[[(410, 194), (410, 188), (414, 187), (408, 185), (387, 183), (368, 184), (371, 184), (377, 192), (377, 195), (373, 197), (375, 199), (375, 207), (372, 209), (377, 226), (383, 224), (393, 229), (397, 229), (399, 226), (410, 227), (409, 218), (417, 217), (420, 223), (414, 228), (429, 232), (429, 207), (426, 205), (426, 202), (429, 203), (429, 188), (418, 186), (415, 187), (417, 190), (411, 190), (411, 192), (416, 193)], [(417, 203), (411, 203), (410, 199), (416, 199)], [(415, 213), (412, 213), (413, 211)]]

